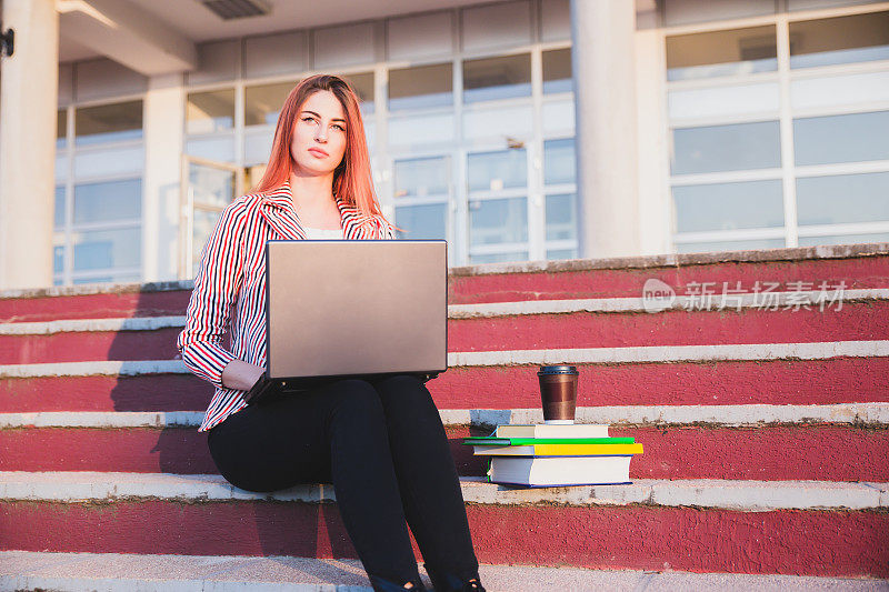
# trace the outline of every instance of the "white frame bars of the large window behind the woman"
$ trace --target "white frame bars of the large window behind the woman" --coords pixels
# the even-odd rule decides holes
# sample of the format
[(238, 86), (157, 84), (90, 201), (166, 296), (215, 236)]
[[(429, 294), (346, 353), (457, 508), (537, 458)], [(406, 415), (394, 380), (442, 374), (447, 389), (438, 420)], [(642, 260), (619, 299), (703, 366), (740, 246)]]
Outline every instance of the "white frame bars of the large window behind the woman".
[[(521, 44), (508, 44), (502, 48), (488, 48), (479, 50), (465, 50), (461, 44), (462, 39), (462, 24), (460, 14), (463, 8), (451, 8), (442, 10), (430, 11), (430, 13), (450, 12), (451, 18), (451, 50), (448, 52), (437, 52), (433, 54), (426, 54), (418, 59), (391, 59), (387, 54), (384, 36), (374, 38), (377, 43), (376, 56), (379, 58), (373, 62), (356, 63), (348, 67), (337, 68), (338, 73), (344, 76), (354, 73), (374, 74), (373, 87), (373, 113), (362, 113), (364, 124), (367, 128), (372, 128), (371, 141), (369, 142), (369, 150), (371, 157), (371, 169), (377, 189), (377, 194), (380, 200), (382, 212), (390, 220), (394, 220), (394, 208), (397, 204), (409, 204), (409, 200), (418, 198), (396, 198), (394, 197), (394, 161), (402, 159), (416, 159), (423, 157), (448, 157), (450, 163), (449, 177), (451, 180), (451, 189), (448, 197), (448, 207), (446, 208), (448, 220), (446, 220), (446, 228), (448, 229), (448, 260), (450, 267), (467, 264), (469, 261), (469, 191), (466, 185), (467, 173), (467, 153), (487, 150), (503, 150), (507, 148), (505, 138), (485, 138), (480, 140), (470, 140), (465, 138), (462, 127), (463, 117), (467, 112), (475, 109), (501, 109), (507, 107), (528, 107), (532, 113), (532, 122), (528, 129), (528, 133), (518, 138), (523, 142), (527, 151), (528, 164), (528, 181), (527, 187), (522, 190), (522, 194), (527, 197), (527, 220), (528, 220), (528, 243), (523, 245), (522, 250), (529, 253), (529, 260), (543, 260), (546, 259), (547, 250), (552, 250), (553, 245), (546, 241), (546, 225), (545, 213), (546, 202), (545, 198), (548, 192), (558, 191), (565, 192), (563, 187), (548, 188), (545, 187), (542, 179), (542, 159), (543, 159), (543, 142), (550, 139), (573, 138), (575, 129), (560, 129), (555, 132), (547, 133), (543, 131), (542, 126), (542, 110), (549, 103), (571, 102), (573, 109), (575, 91), (550, 92), (543, 93), (543, 76), (542, 76), (542, 54), (546, 51), (571, 49), (572, 42), (570, 37), (560, 39), (545, 40), (542, 11), (545, 9), (541, 0), (530, 0), (528, 3), (530, 10), (529, 26), (530, 42)], [(386, 30), (390, 20), (403, 19), (406, 17), (391, 17), (380, 19), (382, 30)], [(311, 29), (308, 30), (309, 38), (311, 38)], [(462, 62), (465, 60), (481, 59), (481, 58), (500, 58), (513, 54), (530, 54), (531, 60), (531, 93), (527, 97), (513, 97), (506, 99), (497, 99), (490, 101), (478, 101), (471, 103), (463, 102), (463, 80), (462, 80)], [(398, 109), (389, 110), (389, 98), (387, 94), (388, 73), (391, 69), (404, 69), (421, 66), (434, 66), (449, 63), (451, 66), (451, 74), (453, 77), (451, 83), (452, 103), (441, 107), (429, 107), (421, 109)], [(192, 92), (204, 92), (213, 90), (234, 89), (234, 126), (231, 130), (223, 130), (221, 132), (213, 132), (207, 134), (188, 134), (187, 123), (182, 123), (183, 146), (186, 147), (184, 153), (191, 155), (188, 150), (188, 144), (194, 140), (213, 140), (222, 139), (228, 140), (231, 138), (233, 141), (233, 158), (228, 160), (231, 164), (244, 168), (253, 164), (246, 161), (246, 139), (250, 134), (271, 134), (274, 131), (273, 124), (264, 126), (244, 126), (246, 119), (246, 89), (248, 87), (273, 84), (279, 82), (293, 82), (314, 73), (324, 73), (331, 71), (330, 68), (317, 69), (309, 64), (299, 66), (294, 71), (276, 73), (273, 76), (248, 77), (242, 67), (236, 68), (233, 79), (218, 80), (207, 83), (190, 84), (186, 82), (183, 86), (182, 98), (182, 112), (184, 112), (188, 104), (188, 94)], [(400, 118), (421, 118), (427, 116), (442, 116), (447, 114), (452, 118), (453, 132), (451, 139), (434, 144), (422, 146), (417, 148), (407, 148), (392, 146), (390, 147), (389, 124)], [(200, 157), (200, 153), (193, 153)], [(217, 159), (218, 160), (218, 159)], [(570, 191), (577, 194), (577, 183), (572, 183)], [(419, 203), (419, 202), (417, 202)], [(580, 219), (575, 212), (575, 224), (577, 225), (577, 234), (580, 235), (582, 230), (580, 228)], [(578, 241), (571, 241), (570, 248), (576, 249)], [(487, 245), (490, 248), (492, 245)], [(502, 247), (498, 252), (515, 251), (516, 249), (510, 245)], [(558, 248), (568, 248), (563, 242), (556, 243)]]

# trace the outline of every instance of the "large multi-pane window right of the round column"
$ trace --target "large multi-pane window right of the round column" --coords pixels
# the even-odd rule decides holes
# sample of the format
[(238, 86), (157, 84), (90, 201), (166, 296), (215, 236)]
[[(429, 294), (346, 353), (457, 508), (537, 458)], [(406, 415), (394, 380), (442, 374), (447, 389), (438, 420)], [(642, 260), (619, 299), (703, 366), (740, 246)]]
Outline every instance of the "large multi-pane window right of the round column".
[[(779, 38), (789, 40), (788, 98), (769, 73)], [(668, 37), (666, 49), (678, 251), (889, 235), (889, 11), (791, 13)]]

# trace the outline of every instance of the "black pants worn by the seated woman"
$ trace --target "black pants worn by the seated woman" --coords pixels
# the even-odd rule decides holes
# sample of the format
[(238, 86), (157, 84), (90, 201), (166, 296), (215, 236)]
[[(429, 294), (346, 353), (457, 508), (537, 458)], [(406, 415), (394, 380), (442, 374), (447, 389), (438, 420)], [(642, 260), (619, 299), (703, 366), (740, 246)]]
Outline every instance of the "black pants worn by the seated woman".
[(222, 476), (248, 491), (332, 481), (370, 575), (399, 585), (418, 576), (406, 519), (429, 569), (478, 573), (444, 428), (418, 378), (272, 395), (213, 427), (208, 443)]

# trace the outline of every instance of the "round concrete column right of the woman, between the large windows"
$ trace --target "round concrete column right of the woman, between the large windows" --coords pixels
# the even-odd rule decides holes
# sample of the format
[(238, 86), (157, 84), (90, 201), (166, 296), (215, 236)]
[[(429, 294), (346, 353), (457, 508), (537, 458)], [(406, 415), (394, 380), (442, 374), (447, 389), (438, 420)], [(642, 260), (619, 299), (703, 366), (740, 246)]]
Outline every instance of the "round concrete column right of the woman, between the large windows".
[(640, 253), (636, 2), (571, 0), (580, 254)]

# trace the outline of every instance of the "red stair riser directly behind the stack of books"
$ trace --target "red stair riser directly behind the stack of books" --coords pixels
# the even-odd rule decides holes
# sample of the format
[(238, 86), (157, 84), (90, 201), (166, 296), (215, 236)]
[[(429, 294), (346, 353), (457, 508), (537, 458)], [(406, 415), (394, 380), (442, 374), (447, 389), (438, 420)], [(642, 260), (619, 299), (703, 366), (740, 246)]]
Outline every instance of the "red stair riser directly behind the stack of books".
[[(486, 473), (486, 459), (461, 442), (489, 432), (447, 428), (461, 475)], [(611, 434), (643, 444), (630, 464), (632, 479), (889, 482), (889, 427), (612, 427)], [(194, 428), (0, 430), (0, 471), (218, 473), (206, 433)]]

